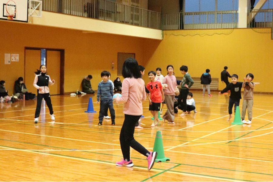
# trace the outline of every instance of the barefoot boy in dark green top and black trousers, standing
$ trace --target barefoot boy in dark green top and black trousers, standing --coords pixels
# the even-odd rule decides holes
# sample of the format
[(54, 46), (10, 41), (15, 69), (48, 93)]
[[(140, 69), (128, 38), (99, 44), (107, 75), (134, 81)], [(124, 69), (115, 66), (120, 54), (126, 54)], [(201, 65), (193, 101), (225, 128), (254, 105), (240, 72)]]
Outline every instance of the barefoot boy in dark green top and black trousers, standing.
[[(187, 66), (180, 67), (181, 73), (184, 75), (181, 84), (181, 90), (177, 99), (178, 108), (183, 110), (183, 113), (180, 116), (186, 116), (187, 111), (187, 96), (189, 93), (189, 88), (194, 84), (193, 79), (191, 79), (190, 74), (188, 73)], [(182, 100), (182, 101), (181, 101)]]

